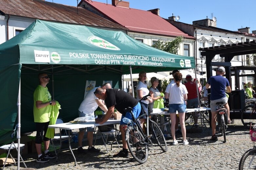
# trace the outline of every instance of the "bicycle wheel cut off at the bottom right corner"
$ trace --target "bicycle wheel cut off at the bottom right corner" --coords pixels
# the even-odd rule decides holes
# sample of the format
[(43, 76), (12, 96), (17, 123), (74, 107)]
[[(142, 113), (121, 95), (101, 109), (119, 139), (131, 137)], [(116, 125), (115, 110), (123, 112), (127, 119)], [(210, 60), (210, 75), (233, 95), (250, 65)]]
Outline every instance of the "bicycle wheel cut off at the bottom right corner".
[(256, 149), (247, 150), (239, 162), (239, 170), (256, 169)]

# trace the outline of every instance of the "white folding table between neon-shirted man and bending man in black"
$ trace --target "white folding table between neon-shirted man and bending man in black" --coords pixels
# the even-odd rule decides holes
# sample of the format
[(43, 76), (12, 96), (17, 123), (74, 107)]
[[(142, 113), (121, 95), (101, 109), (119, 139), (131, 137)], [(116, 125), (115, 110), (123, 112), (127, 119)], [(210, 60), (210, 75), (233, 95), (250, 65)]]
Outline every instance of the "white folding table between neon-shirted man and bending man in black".
[[(86, 123), (61, 123), (61, 124), (56, 124), (56, 125), (49, 125), (49, 128), (59, 128), (60, 129), (60, 142), (61, 141), (61, 130), (65, 129), (65, 130), (72, 130), (72, 129), (80, 129), (80, 128), (87, 128), (87, 127), (96, 127), (96, 126), (103, 126), (103, 125), (109, 125), (109, 124), (120, 124), (121, 120), (108, 120), (107, 122), (103, 123), (103, 124), (98, 124), (95, 123), (95, 120), (88, 120), (88, 122)], [(71, 140), (71, 135), (70, 135), (70, 131), (69, 131), (69, 150), (74, 158), (75, 161), (75, 165), (76, 165), (76, 158), (73, 154), (71, 145), (70, 145), (70, 140)], [(59, 151), (58, 151), (59, 153)], [(64, 152), (67, 153), (67, 152)]]

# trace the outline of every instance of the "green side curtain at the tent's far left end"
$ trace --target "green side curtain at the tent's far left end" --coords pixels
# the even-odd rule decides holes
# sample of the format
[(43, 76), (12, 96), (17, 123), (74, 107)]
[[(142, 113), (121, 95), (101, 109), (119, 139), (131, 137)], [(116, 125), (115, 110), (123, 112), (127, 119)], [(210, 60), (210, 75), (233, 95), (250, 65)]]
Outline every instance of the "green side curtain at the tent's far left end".
[(16, 140), (11, 136), (16, 126), (21, 64), (0, 67), (0, 146)]

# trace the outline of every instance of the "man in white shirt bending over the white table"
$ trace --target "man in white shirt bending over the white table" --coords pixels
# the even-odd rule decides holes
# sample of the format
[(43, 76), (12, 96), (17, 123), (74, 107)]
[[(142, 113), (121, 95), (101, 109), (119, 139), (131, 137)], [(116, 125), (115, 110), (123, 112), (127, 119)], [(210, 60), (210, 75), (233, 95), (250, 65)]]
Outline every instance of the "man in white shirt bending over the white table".
[[(104, 105), (103, 101), (98, 99), (94, 95), (94, 92), (97, 88), (98, 87), (94, 87), (93, 89), (91, 89), (85, 96), (82, 103), (80, 104), (80, 107), (78, 109), (79, 117), (86, 117), (87, 120), (95, 120), (94, 111), (97, 109), (98, 106), (104, 112), (107, 113), (108, 108), (106, 107), (106, 105)], [(111, 85), (109, 83), (106, 83), (106, 84), (102, 85), (101, 88), (103, 88), (103, 89), (111, 88)], [(88, 127), (88, 128), (85, 128), (85, 130), (86, 129), (87, 129), (87, 139), (88, 139), (88, 152), (96, 152), (96, 153), (100, 152), (100, 149), (95, 149), (92, 146), (94, 127)], [(78, 133), (78, 149), (77, 149), (77, 151), (80, 154), (85, 154), (86, 151), (82, 147), (82, 141), (84, 138), (85, 130), (83, 130), (83, 128), (79, 129), (79, 130), (80, 130), (80, 132)]]

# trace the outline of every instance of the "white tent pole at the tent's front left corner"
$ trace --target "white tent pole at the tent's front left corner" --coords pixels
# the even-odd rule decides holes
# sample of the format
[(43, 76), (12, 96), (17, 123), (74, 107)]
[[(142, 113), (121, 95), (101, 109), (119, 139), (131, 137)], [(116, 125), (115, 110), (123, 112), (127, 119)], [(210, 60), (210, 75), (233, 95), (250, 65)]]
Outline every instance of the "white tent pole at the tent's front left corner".
[(17, 124), (17, 139), (18, 139), (18, 161), (17, 161), (17, 170), (20, 169), (20, 85), (19, 85), (19, 94), (18, 94), (18, 124)]

